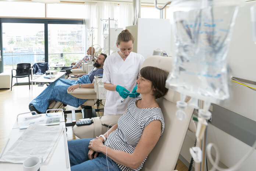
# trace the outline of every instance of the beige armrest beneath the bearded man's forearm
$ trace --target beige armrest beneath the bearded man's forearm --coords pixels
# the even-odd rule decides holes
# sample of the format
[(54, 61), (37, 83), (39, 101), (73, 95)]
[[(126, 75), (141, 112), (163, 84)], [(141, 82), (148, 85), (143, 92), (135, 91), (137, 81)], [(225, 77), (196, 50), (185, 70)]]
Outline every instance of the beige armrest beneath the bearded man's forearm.
[(74, 89), (73, 92), (68, 92), (68, 94), (77, 97), (78, 99), (97, 99), (97, 94), (94, 92), (94, 89), (78, 88)]

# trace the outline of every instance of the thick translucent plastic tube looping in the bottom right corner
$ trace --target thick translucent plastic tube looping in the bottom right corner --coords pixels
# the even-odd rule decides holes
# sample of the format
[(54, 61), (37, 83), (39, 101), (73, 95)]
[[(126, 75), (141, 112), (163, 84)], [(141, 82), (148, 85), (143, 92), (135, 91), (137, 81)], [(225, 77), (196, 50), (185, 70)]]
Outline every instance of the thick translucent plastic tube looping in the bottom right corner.
[[(213, 158), (211, 157), (211, 147), (214, 147), (214, 150), (216, 152), (215, 161), (213, 161)], [(233, 165), (230, 168), (221, 168), (221, 167), (218, 166), (218, 162), (220, 160), (220, 152), (218, 150), (218, 147), (215, 144), (213, 144), (213, 143), (209, 143), (207, 145), (207, 147), (206, 147), (206, 153), (207, 153), (209, 161), (213, 165), (213, 167), (211, 168), (210, 171), (215, 171), (216, 169), (219, 170), (219, 171), (235, 171), (235, 170), (238, 170), (242, 166), (242, 164), (245, 162), (245, 160), (254, 152), (255, 147), (256, 147), (256, 140), (255, 140), (255, 142), (254, 142), (254, 144), (252, 146), (252, 149), (249, 150), (249, 152), (247, 152), (245, 154), (245, 156), (243, 156), (241, 158), (240, 161), (238, 161), (235, 165)]]

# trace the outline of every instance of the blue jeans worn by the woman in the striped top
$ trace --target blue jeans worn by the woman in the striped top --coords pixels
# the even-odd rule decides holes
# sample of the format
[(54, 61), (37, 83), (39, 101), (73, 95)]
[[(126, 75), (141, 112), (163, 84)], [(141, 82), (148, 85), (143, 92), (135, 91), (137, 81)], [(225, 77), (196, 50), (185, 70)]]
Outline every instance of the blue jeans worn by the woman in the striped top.
[[(91, 139), (68, 141), (71, 171), (121, 171), (117, 164), (106, 155), (99, 153), (98, 157), (89, 160), (88, 146)], [(109, 164), (109, 168), (107, 166)]]

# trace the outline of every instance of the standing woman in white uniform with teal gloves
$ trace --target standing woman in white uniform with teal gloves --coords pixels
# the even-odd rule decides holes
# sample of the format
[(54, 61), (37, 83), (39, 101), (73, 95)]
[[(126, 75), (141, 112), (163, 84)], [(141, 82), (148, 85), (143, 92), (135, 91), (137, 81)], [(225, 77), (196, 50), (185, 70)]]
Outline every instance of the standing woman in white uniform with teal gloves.
[(139, 95), (136, 92), (136, 80), (145, 59), (141, 54), (132, 52), (133, 43), (132, 34), (127, 29), (123, 30), (117, 37), (119, 51), (104, 62), (102, 82), (108, 90), (104, 115), (124, 114), (130, 97)]

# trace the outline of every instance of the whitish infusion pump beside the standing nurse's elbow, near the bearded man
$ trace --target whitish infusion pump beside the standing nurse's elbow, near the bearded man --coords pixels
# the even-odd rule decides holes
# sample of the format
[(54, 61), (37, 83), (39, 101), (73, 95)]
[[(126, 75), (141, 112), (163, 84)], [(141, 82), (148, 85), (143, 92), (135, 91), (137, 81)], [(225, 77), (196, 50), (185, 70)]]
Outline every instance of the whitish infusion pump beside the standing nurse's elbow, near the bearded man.
[[(100, 78), (101, 77), (101, 78)], [(103, 100), (107, 97), (107, 90), (102, 83), (102, 76), (94, 76), (94, 92), (97, 93), (97, 99)]]

